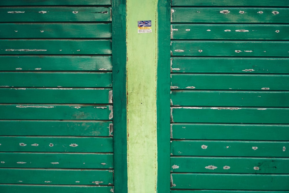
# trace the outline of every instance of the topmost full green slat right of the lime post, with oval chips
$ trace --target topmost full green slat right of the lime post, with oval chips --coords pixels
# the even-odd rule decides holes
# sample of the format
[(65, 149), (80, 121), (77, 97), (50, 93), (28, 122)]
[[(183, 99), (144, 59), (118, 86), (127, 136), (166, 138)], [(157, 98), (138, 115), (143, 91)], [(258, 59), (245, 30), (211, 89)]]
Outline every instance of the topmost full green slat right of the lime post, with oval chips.
[[(221, 13), (222, 11), (224, 12)], [(286, 8), (175, 7), (172, 8), (171, 21), (173, 23), (289, 23), (286, 19), (288, 16), (289, 10)]]

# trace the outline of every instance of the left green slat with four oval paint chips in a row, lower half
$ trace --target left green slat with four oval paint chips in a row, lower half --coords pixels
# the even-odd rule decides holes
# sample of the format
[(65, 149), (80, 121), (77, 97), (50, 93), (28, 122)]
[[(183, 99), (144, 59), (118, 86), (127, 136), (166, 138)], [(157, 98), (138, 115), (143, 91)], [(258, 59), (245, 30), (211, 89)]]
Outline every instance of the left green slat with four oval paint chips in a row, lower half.
[[(0, 141), (1, 152), (96, 153), (113, 151), (112, 137), (0, 137)], [(15, 160), (15, 162), (25, 161)]]

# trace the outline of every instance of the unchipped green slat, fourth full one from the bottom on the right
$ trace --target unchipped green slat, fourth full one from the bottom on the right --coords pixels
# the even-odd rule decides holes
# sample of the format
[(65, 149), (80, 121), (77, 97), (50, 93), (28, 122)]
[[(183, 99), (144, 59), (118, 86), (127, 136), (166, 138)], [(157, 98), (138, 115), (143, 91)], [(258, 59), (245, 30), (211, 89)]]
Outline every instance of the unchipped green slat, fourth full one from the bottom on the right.
[[(289, 125), (285, 124), (177, 124), (172, 139), (268, 140), (287, 141)], [(260, 135), (262, 134), (262, 135)]]

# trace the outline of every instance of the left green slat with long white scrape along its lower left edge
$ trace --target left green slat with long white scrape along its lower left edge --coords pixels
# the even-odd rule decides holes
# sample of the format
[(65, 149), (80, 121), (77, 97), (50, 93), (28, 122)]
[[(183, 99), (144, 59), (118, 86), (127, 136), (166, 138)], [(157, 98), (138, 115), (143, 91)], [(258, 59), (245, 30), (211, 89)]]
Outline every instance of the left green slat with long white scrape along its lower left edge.
[(1, 40), (0, 55), (107, 55), (110, 40)]

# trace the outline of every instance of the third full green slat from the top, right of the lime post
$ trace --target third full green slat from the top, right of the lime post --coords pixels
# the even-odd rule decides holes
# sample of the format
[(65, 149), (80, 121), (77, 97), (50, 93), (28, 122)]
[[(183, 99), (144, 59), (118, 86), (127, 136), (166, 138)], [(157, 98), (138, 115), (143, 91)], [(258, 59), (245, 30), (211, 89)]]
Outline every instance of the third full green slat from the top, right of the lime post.
[(172, 41), (172, 56), (288, 57), (288, 41)]

